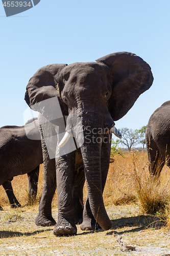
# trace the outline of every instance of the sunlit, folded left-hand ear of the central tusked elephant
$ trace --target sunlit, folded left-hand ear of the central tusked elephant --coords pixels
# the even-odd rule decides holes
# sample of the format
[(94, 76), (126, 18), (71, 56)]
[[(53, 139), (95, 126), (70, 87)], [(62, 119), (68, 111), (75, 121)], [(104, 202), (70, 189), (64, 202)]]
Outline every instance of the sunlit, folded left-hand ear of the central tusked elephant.
[[(30, 78), (26, 89), (25, 100), (31, 109), (41, 112), (43, 108), (42, 101), (58, 97), (62, 112), (67, 112), (66, 105), (61, 101), (55, 84), (55, 80), (58, 80), (57, 78), (65, 66), (67, 66), (67, 64), (47, 65), (40, 68)], [(67, 115), (67, 113), (65, 114)]]

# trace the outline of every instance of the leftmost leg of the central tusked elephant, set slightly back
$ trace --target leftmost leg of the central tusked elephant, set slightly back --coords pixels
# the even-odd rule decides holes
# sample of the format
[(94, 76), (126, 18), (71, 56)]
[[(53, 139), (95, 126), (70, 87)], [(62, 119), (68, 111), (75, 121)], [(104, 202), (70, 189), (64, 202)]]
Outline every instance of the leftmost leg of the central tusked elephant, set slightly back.
[(52, 200), (56, 191), (55, 159), (44, 161), (44, 183), (39, 212), (35, 219), (37, 226), (54, 226), (56, 221), (52, 217)]

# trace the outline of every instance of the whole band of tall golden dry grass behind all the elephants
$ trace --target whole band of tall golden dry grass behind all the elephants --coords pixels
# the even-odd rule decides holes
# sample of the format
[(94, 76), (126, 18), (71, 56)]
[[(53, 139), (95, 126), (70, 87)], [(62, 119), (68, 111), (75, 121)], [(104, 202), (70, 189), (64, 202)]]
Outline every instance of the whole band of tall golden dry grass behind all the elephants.
[[(114, 162), (110, 163), (109, 173), (104, 189), (105, 205), (118, 205), (136, 202), (146, 213), (161, 210), (169, 202), (170, 195), (170, 170), (165, 165), (159, 181), (153, 182), (149, 174), (147, 152), (126, 152), (125, 157), (117, 155)], [(14, 194), (20, 204), (28, 203), (28, 178), (27, 175), (14, 177), (12, 181)], [(38, 182), (38, 204), (42, 194), (43, 165), (40, 167)], [(9, 205), (7, 195), (0, 186), (0, 205)], [(84, 201), (87, 197), (87, 188), (84, 186)], [(53, 206), (57, 206), (57, 191), (53, 199)]]

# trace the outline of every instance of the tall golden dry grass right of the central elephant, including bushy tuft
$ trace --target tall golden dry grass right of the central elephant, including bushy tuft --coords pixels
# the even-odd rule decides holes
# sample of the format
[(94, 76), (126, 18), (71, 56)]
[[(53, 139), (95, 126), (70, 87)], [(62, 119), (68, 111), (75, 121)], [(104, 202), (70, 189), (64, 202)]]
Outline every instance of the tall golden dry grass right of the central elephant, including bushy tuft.
[(170, 202), (170, 170), (165, 165), (155, 178), (149, 173), (147, 152), (127, 152), (110, 164), (104, 194), (105, 204), (109, 198), (114, 205), (135, 201), (147, 214), (165, 212)]

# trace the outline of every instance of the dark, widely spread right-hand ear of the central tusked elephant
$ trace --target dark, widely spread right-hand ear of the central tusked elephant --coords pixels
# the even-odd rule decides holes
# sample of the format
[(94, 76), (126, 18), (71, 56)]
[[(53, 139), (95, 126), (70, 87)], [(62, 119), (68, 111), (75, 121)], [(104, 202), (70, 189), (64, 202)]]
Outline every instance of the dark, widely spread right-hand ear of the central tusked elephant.
[(116, 121), (126, 115), (139, 95), (151, 87), (154, 79), (151, 68), (142, 58), (129, 52), (112, 53), (96, 61), (108, 67), (112, 84), (109, 112)]

